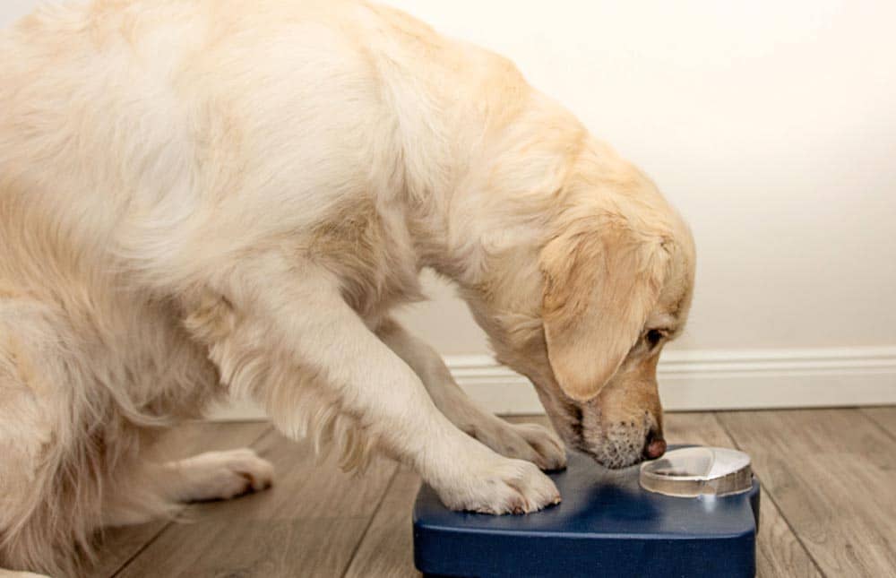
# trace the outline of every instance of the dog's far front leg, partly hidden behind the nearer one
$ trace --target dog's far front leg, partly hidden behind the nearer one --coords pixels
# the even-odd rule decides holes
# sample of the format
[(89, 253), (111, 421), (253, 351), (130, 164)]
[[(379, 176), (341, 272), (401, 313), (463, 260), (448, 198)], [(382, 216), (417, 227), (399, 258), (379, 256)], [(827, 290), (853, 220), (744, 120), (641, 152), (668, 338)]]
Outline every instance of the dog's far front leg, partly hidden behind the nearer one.
[(564, 444), (547, 427), (511, 424), (480, 408), (454, 381), (442, 356), (397, 322), (383, 322), (376, 334), (419, 375), (435, 406), (462, 431), (497, 453), (528, 460), (542, 470), (565, 467)]

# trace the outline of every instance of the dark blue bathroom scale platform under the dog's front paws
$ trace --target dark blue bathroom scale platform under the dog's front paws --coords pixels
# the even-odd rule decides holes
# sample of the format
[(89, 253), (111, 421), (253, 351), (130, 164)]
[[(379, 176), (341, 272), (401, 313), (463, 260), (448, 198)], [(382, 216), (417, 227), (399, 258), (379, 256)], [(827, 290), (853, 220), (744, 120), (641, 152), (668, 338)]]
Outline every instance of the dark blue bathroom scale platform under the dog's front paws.
[[(678, 446), (682, 447), (682, 446)], [(563, 502), (538, 513), (452, 512), (420, 488), (414, 563), (427, 576), (754, 576), (759, 482), (734, 496), (643, 489), (639, 468), (607, 470), (583, 453), (550, 474)]]

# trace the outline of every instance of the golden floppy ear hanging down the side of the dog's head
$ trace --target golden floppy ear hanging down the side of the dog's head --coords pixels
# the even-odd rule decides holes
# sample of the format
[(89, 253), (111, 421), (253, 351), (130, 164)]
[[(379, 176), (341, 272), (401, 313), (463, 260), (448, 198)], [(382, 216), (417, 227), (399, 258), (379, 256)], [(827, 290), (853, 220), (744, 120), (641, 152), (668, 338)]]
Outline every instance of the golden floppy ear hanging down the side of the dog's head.
[(641, 337), (667, 272), (664, 238), (580, 220), (542, 250), (547, 357), (573, 400), (596, 396)]

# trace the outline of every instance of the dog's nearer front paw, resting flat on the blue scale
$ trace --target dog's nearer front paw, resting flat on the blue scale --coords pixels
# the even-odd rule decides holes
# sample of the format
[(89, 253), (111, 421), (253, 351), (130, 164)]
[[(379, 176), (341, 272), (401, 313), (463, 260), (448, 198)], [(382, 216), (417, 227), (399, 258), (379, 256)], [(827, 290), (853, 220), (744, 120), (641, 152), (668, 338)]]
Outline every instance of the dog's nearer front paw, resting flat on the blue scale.
[(554, 482), (531, 462), (499, 457), (469, 473), (439, 491), (444, 505), (452, 510), (530, 513), (560, 503)]

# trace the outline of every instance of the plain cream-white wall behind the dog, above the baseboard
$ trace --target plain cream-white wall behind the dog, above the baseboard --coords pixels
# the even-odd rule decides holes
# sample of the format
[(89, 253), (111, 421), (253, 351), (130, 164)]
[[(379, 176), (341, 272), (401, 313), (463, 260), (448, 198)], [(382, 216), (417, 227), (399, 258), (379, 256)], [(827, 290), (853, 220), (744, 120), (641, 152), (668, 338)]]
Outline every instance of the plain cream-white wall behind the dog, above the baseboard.
[[(37, 4), (2, 2), (0, 24)], [(673, 360), (836, 348), (863, 367), (883, 355), (875, 383), (896, 391), (896, 3), (391, 3), (513, 58), (685, 214), (699, 266)], [(486, 353), (451, 289), (429, 286), (407, 322), (447, 355)]]

